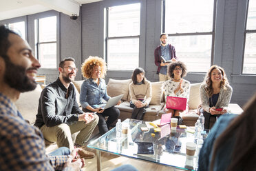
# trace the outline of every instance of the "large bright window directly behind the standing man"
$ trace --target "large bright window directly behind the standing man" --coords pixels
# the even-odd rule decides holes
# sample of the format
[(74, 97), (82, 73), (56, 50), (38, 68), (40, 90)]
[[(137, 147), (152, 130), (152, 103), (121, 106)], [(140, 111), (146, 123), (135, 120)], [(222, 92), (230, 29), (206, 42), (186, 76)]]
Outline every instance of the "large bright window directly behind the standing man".
[(213, 59), (215, 0), (163, 0), (163, 32), (190, 72), (206, 72)]

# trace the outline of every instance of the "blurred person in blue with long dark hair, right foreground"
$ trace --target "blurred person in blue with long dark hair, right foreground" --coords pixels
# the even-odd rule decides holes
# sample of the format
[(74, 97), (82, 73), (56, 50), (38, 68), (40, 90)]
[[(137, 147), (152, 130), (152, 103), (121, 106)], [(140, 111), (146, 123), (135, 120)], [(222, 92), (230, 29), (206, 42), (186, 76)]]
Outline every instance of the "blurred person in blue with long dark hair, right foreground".
[(256, 94), (244, 105), (244, 112), (224, 114), (211, 129), (200, 150), (198, 171), (255, 170)]

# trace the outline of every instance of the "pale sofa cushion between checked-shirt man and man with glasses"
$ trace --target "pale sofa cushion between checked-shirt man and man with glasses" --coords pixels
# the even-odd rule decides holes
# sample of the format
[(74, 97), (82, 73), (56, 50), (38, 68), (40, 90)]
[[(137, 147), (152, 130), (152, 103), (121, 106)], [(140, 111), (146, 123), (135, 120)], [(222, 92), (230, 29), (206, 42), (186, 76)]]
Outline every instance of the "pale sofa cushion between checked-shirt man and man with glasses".
[(42, 88), (38, 84), (35, 90), (21, 93), (19, 99), (15, 102), (15, 105), (19, 112), (21, 112), (22, 117), (30, 121), (30, 124), (34, 124), (34, 121), (36, 121), (41, 91)]

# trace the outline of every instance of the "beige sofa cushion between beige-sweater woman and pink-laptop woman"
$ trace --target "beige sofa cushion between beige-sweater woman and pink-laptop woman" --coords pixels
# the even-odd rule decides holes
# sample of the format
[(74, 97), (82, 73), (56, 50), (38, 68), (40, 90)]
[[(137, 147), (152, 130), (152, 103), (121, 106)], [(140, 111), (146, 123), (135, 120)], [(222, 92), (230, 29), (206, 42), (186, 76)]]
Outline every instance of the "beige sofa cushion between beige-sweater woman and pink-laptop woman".
[(164, 92), (164, 81), (152, 82), (152, 99), (149, 104), (157, 105), (162, 101), (162, 96)]

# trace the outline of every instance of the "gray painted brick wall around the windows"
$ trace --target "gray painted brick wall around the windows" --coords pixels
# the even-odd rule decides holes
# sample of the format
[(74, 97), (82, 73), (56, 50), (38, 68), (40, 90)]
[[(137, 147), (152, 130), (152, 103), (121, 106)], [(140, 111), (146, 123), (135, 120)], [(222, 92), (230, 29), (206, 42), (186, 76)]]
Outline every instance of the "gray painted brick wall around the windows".
[[(65, 57), (74, 57), (76, 67), (80, 68), (81, 63), (87, 57), (104, 57), (104, 8), (108, 6), (117, 6), (127, 3), (141, 3), (141, 26), (140, 26), (140, 61), (139, 66), (145, 68), (146, 77), (150, 81), (158, 81), (156, 74), (157, 67), (154, 64), (153, 51), (160, 44), (159, 35), (161, 32), (161, 1), (160, 0), (104, 0), (96, 3), (84, 4), (81, 7), (81, 15), (76, 21), (69, 16), (58, 13), (59, 33), (58, 33), (58, 61)], [(242, 49), (241, 29), (244, 20), (240, 12), (245, 8), (246, 3), (239, 0), (218, 1), (217, 23), (215, 27), (215, 57), (214, 64), (222, 66), (227, 74), (228, 80), (233, 87), (232, 103), (244, 105), (246, 101), (255, 93), (256, 76), (237, 74), (241, 70), (242, 55), (239, 54)], [(51, 13), (42, 12), (10, 19), (19, 21), (21, 19), (28, 21), (28, 41), (32, 48), (34, 47), (34, 17)], [(25, 19), (24, 19), (25, 18)], [(6, 21), (0, 21), (5, 23)], [(240, 37), (239, 37), (240, 36)], [(175, 46), (175, 43), (173, 43)], [(237, 48), (238, 47), (238, 48)], [(178, 54), (178, 52), (177, 52)], [(237, 55), (239, 54), (239, 55)], [(58, 70), (40, 70), (40, 74), (46, 74), (47, 83), (55, 81), (58, 77)], [(106, 81), (112, 79), (129, 79), (131, 72), (108, 71)], [(76, 80), (81, 80), (81, 72), (78, 72)], [(191, 83), (203, 81), (204, 73), (189, 73), (187, 80)]]

